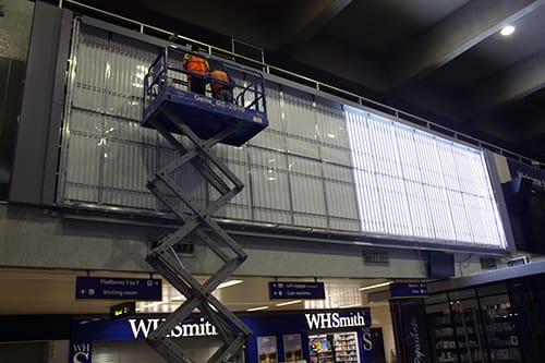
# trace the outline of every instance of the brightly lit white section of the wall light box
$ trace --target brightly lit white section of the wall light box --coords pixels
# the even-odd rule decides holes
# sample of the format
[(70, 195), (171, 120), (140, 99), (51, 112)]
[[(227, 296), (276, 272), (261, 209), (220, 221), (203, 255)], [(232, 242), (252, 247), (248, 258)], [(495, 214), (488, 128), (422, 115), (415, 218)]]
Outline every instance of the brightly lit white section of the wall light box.
[(363, 232), (507, 247), (483, 152), (346, 111)]

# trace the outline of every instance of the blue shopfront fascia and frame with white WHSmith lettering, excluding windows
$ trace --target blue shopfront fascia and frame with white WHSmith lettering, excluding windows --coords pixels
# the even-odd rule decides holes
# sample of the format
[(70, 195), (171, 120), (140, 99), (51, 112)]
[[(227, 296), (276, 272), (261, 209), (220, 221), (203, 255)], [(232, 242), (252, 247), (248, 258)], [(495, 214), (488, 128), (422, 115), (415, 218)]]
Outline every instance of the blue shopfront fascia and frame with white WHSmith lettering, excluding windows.
[[(282, 337), (300, 334), (305, 342), (310, 334), (315, 331), (355, 331), (359, 337), (360, 356), (366, 363), (373, 362), (373, 341), (370, 326), (371, 314), (368, 308), (354, 311), (322, 311), (307, 314), (258, 314), (244, 315), (240, 319), (246, 324), (253, 335), (246, 343), (246, 362), (259, 363), (257, 356), (256, 337), (277, 337), (278, 356), (283, 356)], [(162, 317), (131, 317), (110, 320), (74, 320), (70, 341), (71, 363), (92, 363), (93, 342), (105, 340), (142, 340), (157, 329)], [(192, 317), (177, 325), (169, 334), (178, 339), (218, 339), (216, 327), (205, 317)], [(210, 340), (211, 341), (211, 340)], [(305, 347), (306, 344), (303, 344)], [(308, 351), (303, 348), (304, 359), (308, 362)]]

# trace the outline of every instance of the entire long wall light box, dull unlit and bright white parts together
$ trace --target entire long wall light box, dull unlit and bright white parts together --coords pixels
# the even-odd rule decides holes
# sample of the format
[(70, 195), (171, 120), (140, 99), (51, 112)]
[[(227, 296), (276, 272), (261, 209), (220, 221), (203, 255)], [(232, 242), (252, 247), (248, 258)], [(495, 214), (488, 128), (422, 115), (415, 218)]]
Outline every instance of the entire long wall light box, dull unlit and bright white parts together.
[[(74, 38), (58, 203), (164, 211), (145, 182), (175, 150), (138, 124), (159, 49), (88, 25)], [(447, 244), (505, 239), (481, 154), (270, 81), (266, 97), (268, 129), (214, 150), (245, 184), (218, 217)], [(201, 206), (218, 195), (193, 167), (173, 178)]]

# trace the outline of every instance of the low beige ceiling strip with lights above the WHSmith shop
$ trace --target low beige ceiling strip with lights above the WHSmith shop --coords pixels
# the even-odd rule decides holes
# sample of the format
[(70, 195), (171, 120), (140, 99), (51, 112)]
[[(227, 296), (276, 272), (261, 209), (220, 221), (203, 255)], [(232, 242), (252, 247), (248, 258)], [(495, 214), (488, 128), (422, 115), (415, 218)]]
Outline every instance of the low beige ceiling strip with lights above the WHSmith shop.
[[(123, 300), (75, 299), (76, 277), (87, 276), (85, 270), (0, 268), (0, 315), (32, 314), (109, 314), (110, 306)], [(149, 274), (120, 271), (93, 271), (92, 277), (150, 278)], [(154, 275), (153, 278), (161, 278)], [(196, 279), (203, 283), (205, 276)], [(388, 290), (388, 287), (360, 291), (362, 287), (384, 283), (385, 279), (319, 279), (324, 282), (326, 300), (269, 300), (268, 282), (272, 277), (230, 277), (240, 283), (216, 289), (214, 295), (230, 311), (245, 312), (249, 308), (267, 306), (267, 311), (305, 308), (343, 308), (368, 306), (368, 292)], [(281, 279), (280, 281), (310, 281), (310, 279)], [(162, 301), (138, 301), (138, 313), (167, 313), (174, 311), (184, 301), (180, 292), (162, 279)], [(286, 302), (295, 302), (282, 304)], [(384, 303), (384, 302), (383, 302)], [(372, 304), (380, 304), (373, 302)]]

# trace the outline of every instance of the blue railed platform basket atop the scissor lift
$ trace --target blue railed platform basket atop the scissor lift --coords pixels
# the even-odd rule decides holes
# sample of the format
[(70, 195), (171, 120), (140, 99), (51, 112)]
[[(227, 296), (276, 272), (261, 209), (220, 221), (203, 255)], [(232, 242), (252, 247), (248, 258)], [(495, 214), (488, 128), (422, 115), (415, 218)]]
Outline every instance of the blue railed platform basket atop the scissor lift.
[[(220, 141), (222, 144), (234, 146), (241, 146), (267, 128), (264, 80), (261, 73), (215, 61), (215, 64), (221, 64), (232, 77), (229, 87), (232, 88), (233, 102), (226, 102), (210, 97), (210, 94), (190, 92), (187, 75), (199, 75), (183, 70), (180, 57), (177, 59), (172, 53), (179, 55), (183, 51), (168, 48), (149, 68), (144, 85), (146, 92), (141, 123), (143, 126), (152, 126), (149, 121), (155, 119), (171, 133), (180, 133), (173, 124), (178, 121), (167, 114), (183, 116), (185, 125), (198, 137), (208, 140), (238, 123), (237, 130)], [(214, 82), (210, 76), (203, 78), (208, 84)]]

